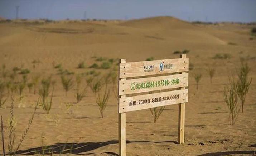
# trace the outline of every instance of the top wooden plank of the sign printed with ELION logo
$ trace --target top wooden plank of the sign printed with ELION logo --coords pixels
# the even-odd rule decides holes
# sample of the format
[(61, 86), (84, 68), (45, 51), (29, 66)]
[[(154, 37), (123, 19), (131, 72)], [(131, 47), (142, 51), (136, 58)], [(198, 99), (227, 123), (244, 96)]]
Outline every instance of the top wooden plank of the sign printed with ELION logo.
[(188, 58), (163, 59), (154, 61), (128, 62), (119, 64), (120, 78), (148, 76), (188, 71)]

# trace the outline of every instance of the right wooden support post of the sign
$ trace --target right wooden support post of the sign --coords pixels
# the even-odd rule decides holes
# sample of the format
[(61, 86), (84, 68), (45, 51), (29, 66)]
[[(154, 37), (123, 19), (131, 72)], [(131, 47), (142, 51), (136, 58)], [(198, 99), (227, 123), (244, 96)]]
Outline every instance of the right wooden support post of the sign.
[[(181, 54), (180, 58), (186, 58), (186, 54)], [(182, 72), (186, 73), (186, 72)], [(185, 87), (181, 88), (182, 90), (185, 89)], [(184, 132), (185, 132), (185, 103), (179, 104), (179, 126), (178, 126), (178, 143), (182, 144), (184, 143)]]

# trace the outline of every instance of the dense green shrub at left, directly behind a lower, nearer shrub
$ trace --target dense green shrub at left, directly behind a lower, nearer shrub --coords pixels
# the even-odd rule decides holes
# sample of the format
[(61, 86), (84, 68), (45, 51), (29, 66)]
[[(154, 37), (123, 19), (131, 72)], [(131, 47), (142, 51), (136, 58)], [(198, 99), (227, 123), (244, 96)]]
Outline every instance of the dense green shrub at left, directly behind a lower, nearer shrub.
[(39, 93), (38, 94), (39, 94), (43, 103), (45, 102), (45, 99), (49, 95), (50, 84), (51, 84), (51, 77), (48, 77), (46, 79), (42, 79), (42, 81), (41, 81), (41, 86), (39, 88)]

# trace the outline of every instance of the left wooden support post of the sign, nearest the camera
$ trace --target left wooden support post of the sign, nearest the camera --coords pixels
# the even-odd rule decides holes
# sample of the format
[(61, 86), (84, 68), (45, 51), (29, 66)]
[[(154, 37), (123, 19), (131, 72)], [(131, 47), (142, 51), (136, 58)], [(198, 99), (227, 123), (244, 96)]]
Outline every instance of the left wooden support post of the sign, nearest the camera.
[[(119, 63), (126, 63), (126, 59), (119, 59)], [(120, 69), (119, 69), (120, 71)], [(119, 72), (120, 74), (120, 72)], [(120, 78), (120, 76), (119, 76)], [(120, 79), (120, 81), (126, 78)], [(119, 96), (119, 85), (118, 85), (118, 97), (125, 98), (126, 95)], [(119, 146), (119, 156), (126, 155), (126, 113), (119, 113), (118, 111), (118, 146)]]

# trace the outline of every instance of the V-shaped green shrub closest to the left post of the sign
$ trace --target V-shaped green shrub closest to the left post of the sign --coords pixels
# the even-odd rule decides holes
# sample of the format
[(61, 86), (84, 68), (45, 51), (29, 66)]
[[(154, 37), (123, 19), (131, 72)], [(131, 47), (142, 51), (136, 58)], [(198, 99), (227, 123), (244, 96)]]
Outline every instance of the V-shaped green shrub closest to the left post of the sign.
[(102, 94), (100, 91), (98, 92), (97, 95), (97, 99), (96, 99), (96, 103), (99, 106), (99, 110), (101, 113), (101, 118), (103, 118), (103, 111), (105, 110), (106, 106), (107, 106), (107, 101), (109, 98), (109, 90), (107, 90), (107, 88), (105, 89), (104, 94)]

